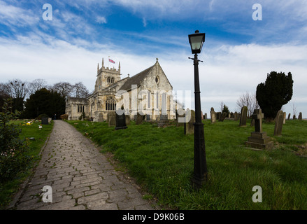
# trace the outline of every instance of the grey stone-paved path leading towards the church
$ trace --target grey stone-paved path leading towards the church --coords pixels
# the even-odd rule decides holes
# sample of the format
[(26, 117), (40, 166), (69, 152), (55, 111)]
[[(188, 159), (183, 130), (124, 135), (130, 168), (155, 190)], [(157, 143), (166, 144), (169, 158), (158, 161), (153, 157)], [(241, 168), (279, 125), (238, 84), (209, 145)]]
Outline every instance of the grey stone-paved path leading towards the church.
[[(43, 202), (44, 186), (52, 202)], [(41, 162), (15, 205), (18, 210), (159, 209), (143, 200), (136, 186), (115, 172), (92, 141), (62, 120), (55, 120)]]

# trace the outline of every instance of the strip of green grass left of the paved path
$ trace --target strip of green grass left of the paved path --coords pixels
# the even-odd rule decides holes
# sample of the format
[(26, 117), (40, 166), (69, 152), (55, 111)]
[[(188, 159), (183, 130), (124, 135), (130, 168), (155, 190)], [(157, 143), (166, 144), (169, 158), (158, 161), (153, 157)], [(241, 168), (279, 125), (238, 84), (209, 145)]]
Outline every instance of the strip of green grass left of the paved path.
[[(24, 141), (27, 141), (27, 144), (29, 144), (27, 155), (29, 155), (32, 160), (26, 170), (20, 172), (20, 174), (14, 176), (13, 179), (8, 182), (0, 183), (0, 209), (6, 209), (13, 195), (19, 190), (22, 182), (31, 175), (34, 166), (41, 158), (39, 153), (47, 137), (50, 135), (53, 126), (52, 122), (49, 125), (43, 125), (43, 129), (39, 130), (38, 125), (41, 125), (41, 122), (34, 122), (32, 125), (26, 125), (27, 121), (25, 120), (14, 120), (11, 122), (21, 127), (22, 132), (20, 133), (20, 139), (24, 139)], [(29, 138), (31, 137), (34, 137), (35, 141), (30, 141)]]

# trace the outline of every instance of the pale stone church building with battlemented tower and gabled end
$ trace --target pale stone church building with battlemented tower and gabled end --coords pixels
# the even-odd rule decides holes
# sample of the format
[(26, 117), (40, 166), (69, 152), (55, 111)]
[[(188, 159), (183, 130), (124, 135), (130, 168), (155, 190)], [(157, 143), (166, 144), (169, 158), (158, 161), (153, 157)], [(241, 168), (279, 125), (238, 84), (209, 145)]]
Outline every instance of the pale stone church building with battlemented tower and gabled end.
[(173, 87), (166, 77), (158, 59), (148, 69), (135, 76), (120, 78), (118, 69), (97, 67), (94, 92), (87, 98), (68, 97), (66, 114), (68, 120), (78, 120), (82, 115), (93, 121), (107, 119), (110, 111), (122, 109), (134, 119), (136, 113), (145, 115), (146, 120), (156, 120), (161, 115), (176, 118), (176, 104), (173, 101)]

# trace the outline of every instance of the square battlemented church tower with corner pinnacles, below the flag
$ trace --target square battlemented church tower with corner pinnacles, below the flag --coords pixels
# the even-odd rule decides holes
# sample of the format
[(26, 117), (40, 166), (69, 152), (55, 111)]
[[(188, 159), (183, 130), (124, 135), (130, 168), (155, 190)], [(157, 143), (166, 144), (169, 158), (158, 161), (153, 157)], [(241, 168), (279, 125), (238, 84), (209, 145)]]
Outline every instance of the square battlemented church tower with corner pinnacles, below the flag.
[(118, 69), (108, 68), (104, 66), (102, 58), (102, 66), (99, 69), (99, 64), (97, 66), (97, 80), (95, 84), (95, 92), (103, 90), (109, 85), (113, 85), (120, 80), (120, 62), (118, 64)]

